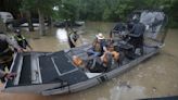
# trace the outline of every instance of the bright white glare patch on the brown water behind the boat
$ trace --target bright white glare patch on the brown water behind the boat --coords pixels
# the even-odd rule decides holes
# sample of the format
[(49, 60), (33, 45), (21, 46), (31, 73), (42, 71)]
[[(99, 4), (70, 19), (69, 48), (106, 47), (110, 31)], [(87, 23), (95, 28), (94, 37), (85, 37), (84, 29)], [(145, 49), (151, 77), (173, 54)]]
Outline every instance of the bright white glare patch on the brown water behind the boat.
[(65, 28), (56, 29), (56, 38), (60, 40), (60, 42), (67, 41), (67, 33)]

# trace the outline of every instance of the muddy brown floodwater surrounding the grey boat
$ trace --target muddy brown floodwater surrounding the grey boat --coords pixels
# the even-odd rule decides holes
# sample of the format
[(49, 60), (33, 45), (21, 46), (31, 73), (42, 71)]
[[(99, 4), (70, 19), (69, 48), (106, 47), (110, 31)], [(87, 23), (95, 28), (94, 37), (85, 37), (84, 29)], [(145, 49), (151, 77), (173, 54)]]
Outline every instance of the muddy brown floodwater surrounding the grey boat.
[[(94, 35), (103, 33), (105, 37), (114, 24), (86, 23), (78, 46), (91, 42)], [(64, 29), (52, 29), (51, 35), (36, 39), (29, 33), (29, 43), (34, 51), (59, 51), (69, 48)], [(38, 37), (38, 36), (37, 36)], [(0, 100), (134, 100), (151, 97), (178, 95), (178, 30), (168, 32), (165, 47), (158, 54), (137, 65), (127, 73), (102, 85), (64, 96), (43, 97), (39, 95), (20, 95), (0, 92)], [(2, 85), (1, 85), (2, 86)]]

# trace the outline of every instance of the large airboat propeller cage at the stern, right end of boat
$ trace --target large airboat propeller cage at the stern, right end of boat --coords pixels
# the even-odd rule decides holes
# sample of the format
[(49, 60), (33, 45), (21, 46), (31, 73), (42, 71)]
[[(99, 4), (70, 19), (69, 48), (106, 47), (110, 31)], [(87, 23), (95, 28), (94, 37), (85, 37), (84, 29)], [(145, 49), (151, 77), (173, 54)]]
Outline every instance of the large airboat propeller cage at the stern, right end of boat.
[[(145, 26), (145, 38), (151, 39), (157, 39), (157, 35), (161, 34), (162, 27), (165, 28), (165, 26), (168, 23), (168, 17), (166, 14), (162, 11), (153, 11), (153, 10), (136, 10), (128, 16), (128, 22), (137, 22), (144, 24)], [(123, 23), (120, 23), (122, 25)], [(127, 24), (127, 23), (126, 23)], [(127, 32), (125, 28), (120, 28), (119, 30), (115, 30), (113, 28), (113, 34), (116, 34), (118, 32)], [(122, 33), (120, 33), (122, 34)], [(163, 37), (164, 38), (164, 37)]]

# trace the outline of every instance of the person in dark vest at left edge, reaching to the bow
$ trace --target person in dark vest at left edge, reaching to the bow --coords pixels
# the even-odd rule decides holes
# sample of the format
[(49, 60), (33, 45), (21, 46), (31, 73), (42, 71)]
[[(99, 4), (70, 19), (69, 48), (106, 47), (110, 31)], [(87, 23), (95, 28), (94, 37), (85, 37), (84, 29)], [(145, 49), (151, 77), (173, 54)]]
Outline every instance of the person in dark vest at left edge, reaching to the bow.
[(11, 79), (15, 74), (5, 73), (5, 67), (10, 70), (14, 51), (10, 47), (12, 46), (17, 50), (17, 52), (22, 52), (22, 48), (17, 45), (17, 42), (13, 39), (4, 35), (0, 32), (0, 79), (4, 82), (4, 78)]

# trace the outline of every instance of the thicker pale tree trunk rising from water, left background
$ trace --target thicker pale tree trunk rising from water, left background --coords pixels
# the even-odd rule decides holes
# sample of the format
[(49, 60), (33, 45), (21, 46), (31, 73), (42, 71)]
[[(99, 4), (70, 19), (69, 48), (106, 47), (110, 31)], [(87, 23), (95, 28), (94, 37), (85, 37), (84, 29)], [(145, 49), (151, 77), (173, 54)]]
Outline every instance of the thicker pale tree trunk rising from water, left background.
[(44, 17), (39, 9), (38, 9), (38, 15), (39, 15), (39, 35), (44, 36), (46, 35)]

